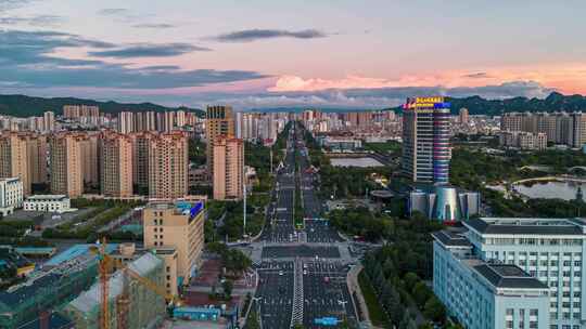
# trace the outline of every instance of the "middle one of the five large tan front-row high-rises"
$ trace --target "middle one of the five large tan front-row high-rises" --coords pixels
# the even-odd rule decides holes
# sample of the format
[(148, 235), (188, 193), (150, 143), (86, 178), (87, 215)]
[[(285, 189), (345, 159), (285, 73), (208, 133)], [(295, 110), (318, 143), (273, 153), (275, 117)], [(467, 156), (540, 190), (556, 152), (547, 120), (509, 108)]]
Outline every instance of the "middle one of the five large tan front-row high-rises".
[(100, 147), (102, 194), (106, 197), (132, 196), (132, 142), (123, 134), (109, 133)]

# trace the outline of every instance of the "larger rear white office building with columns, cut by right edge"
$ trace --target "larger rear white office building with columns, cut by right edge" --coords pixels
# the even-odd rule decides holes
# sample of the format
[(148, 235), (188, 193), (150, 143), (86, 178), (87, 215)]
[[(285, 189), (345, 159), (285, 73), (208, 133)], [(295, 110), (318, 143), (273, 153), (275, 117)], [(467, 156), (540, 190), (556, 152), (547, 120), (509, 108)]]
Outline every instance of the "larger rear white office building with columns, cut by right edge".
[(517, 265), (549, 287), (550, 329), (586, 328), (586, 219), (483, 218), (462, 224), (482, 261)]

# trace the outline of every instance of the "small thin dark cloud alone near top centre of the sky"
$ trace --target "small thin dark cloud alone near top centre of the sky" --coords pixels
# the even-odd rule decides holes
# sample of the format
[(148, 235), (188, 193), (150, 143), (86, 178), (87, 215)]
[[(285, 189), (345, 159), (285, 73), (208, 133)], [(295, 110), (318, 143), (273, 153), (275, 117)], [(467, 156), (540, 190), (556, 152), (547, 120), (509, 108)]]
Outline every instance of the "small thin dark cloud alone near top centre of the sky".
[(327, 37), (327, 35), (317, 29), (304, 29), (298, 31), (284, 29), (244, 29), (219, 35), (212, 39), (221, 42), (252, 42), (276, 38), (316, 39), (324, 37)]

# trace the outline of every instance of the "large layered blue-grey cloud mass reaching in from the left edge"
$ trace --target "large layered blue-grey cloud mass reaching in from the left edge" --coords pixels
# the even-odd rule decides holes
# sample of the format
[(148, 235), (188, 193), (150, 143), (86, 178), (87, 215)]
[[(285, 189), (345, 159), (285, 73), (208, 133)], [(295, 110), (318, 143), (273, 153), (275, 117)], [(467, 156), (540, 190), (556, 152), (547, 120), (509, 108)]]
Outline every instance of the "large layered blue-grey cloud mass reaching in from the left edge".
[[(249, 70), (178, 70), (175, 66), (131, 68), (123, 64), (55, 54), (55, 51), (64, 48), (104, 49), (104, 52), (128, 51), (126, 54), (111, 54), (120, 57), (129, 56), (132, 50), (64, 32), (0, 30), (0, 84), (14, 89), (88, 87), (148, 90), (229, 83), (267, 77)], [(189, 47), (181, 49), (187, 51)], [(140, 50), (143, 52), (135, 52), (133, 55), (145, 55), (148, 52), (150, 55), (169, 55), (154, 47)]]

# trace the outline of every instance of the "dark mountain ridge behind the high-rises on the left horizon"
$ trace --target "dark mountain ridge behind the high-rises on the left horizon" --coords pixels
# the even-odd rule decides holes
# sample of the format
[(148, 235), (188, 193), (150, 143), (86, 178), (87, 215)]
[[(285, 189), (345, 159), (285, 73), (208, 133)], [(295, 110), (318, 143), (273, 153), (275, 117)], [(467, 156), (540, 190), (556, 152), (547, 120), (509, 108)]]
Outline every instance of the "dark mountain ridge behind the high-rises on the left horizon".
[(0, 115), (9, 115), (15, 117), (42, 116), (47, 110), (52, 110), (55, 114), (63, 113), (63, 105), (98, 105), (100, 111), (117, 114), (123, 110), (128, 111), (166, 111), (183, 109), (187, 111), (198, 113), (203, 116), (205, 113), (202, 109), (189, 107), (167, 107), (153, 103), (127, 104), (117, 102), (98, 102), (93, 100), (81, 100), (74, 97), (30, 97), (26, 95), (0, 95)]

